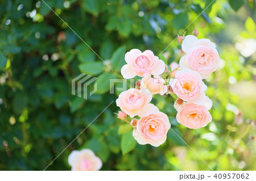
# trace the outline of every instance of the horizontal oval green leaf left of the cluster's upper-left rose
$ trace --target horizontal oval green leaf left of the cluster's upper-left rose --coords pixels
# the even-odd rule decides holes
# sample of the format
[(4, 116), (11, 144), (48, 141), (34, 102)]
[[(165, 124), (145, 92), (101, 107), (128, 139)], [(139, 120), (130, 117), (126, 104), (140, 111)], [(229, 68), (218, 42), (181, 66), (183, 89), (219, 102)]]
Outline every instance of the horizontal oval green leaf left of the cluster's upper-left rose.
[(100, 74), (104, 69), (103, 62), (84, 62), (79, 65), (79, 69), (81, 72), (89, 75), (97, 75)]

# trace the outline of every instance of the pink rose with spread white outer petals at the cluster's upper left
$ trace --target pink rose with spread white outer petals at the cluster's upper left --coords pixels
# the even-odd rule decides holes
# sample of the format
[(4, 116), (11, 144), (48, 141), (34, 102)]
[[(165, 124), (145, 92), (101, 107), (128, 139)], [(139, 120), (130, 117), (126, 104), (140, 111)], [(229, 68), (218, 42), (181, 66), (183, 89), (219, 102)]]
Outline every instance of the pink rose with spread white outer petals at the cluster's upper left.
[(136, 75), (144, 77), (144, 74), (160, 75), (164, 72), (165, 64), (154, 56), (151, 50), (143, 53), (139, 49), (132, 49), (125, 54), (126, 65), (123, 65), (121, 74), (123, 78), (134, 78)]

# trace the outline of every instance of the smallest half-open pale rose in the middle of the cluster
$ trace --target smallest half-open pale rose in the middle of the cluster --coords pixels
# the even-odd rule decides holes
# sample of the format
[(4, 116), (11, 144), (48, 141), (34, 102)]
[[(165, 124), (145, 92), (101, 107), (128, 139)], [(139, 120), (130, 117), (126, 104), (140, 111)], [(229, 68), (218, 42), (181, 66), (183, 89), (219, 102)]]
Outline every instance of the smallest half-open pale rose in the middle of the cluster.
[(150, 74), (146, 74), (141, 81), (143, 89), (149, 89), (152, 94), (163, 95), (167, 91), (167, 86), (164, 86), (164, 79), (158, 75), (154, 75), (154, 78)]

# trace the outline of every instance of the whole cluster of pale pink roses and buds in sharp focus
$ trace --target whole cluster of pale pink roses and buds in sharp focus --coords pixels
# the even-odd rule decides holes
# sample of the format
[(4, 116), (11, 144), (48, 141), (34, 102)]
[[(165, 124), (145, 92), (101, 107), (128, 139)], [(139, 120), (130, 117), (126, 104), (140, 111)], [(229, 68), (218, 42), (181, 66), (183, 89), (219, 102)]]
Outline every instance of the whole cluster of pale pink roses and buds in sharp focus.
[[(134, 127), (133, 137), (141, 145), (159, 146), (166, 141), (171, 128), (168, 116), (151, 102), (154, 94), (175, 94), (177, 121), (190, 129), (205, 127), (212, 116), (212, 101), (205, 95), (207, 78), (218, 67), (220, 57), (216, 45), (209, 39), (182, 37), (185, 55), (179, 64), (172, 62), (171, 71), (151, 50), (132, 49), (125, 54), (126, 65), (121, 69), (125, 79), (142, 77), (135, 88), (121, 92), (116, 100), (121, 108), (118, 118)], [(179, 37), (180, 41), (180, 37)], [(167, 76), (166, 76), (167, 75)]]

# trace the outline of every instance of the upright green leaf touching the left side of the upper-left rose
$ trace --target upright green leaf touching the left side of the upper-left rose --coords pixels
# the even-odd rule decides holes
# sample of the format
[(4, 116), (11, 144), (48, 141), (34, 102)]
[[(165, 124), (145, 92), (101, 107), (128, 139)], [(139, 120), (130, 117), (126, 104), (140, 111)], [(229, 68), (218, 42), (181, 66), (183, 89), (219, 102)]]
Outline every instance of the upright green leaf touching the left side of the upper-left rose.
[(122, 66), (125, 64), (125, 46), (122, 46), (113, 53), (111, 57), (111, 65), (114, 70), (121, 71)]

